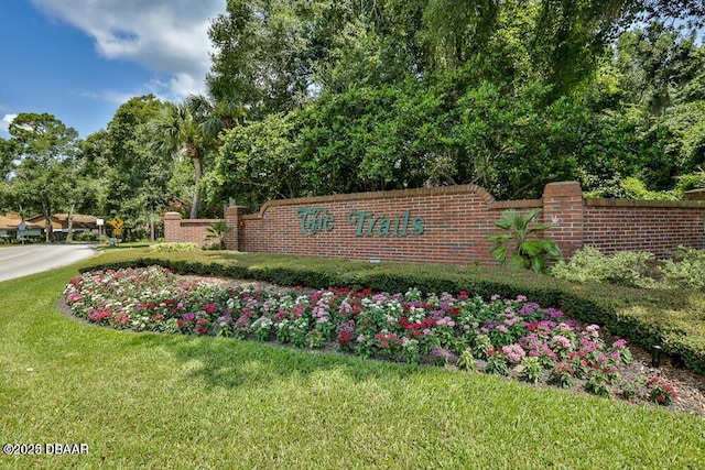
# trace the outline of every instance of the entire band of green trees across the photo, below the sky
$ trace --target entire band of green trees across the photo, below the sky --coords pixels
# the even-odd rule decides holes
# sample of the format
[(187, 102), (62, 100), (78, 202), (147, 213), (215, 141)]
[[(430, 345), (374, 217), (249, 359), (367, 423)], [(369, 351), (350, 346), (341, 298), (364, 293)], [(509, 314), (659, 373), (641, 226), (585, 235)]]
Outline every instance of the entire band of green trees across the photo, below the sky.
[(0, 203), (66, 166), (84, 190), (54, 205), (135, 232), (166, 209), (464, 183), (677, 197), (705, 185), (704, 19), (702, 0), (229, 0), (207, 96), (132, 98), (80, 142), (20, 114)]

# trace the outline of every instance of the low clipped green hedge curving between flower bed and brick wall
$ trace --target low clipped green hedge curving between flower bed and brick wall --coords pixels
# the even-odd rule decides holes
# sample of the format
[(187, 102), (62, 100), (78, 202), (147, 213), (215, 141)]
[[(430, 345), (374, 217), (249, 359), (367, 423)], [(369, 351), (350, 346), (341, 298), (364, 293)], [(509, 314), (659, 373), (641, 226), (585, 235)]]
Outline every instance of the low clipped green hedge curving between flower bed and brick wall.
[(561, 308), (583, 323), (650, 349), (660, 345), (674, 361), (705, 373), (705, 295), (698, 291), (644, 291), (597, 284), (574, 284), (528, 271), (486, 266), (449, 266), (411, 263), (375, 265), (358, 261), (302, 256), (238, 254), (193, 259), (159, 255), (108, 262), (84, 267), (119, 269), (158, 264), (180, 274), (216, 275), (315, 288), (349, 287), (373, 291), (466, 291), (488, 298), (525, 295), (542, 306)]

